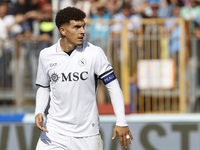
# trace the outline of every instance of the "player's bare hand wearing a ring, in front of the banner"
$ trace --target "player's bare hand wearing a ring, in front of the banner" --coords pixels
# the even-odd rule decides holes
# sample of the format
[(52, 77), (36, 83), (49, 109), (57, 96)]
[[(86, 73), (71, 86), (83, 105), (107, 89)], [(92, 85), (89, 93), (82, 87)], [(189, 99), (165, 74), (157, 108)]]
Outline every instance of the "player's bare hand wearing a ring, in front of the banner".
[[(133, 136), (129, 130), (129, 127), (120, 127), (120, 126), (115, 126), (114, 130), (113, 130), (113, 137), (112, 139), (114, 140), (116, 135), (119, 135), (119, 140), (120, 140), (120, 144), (121, 147), (127, 148), (127, 141), (128, 144), (131, 145), (131, 140), (133, 140)], [(127, 139), (127, 135), (129, 135), (129, 139)]]

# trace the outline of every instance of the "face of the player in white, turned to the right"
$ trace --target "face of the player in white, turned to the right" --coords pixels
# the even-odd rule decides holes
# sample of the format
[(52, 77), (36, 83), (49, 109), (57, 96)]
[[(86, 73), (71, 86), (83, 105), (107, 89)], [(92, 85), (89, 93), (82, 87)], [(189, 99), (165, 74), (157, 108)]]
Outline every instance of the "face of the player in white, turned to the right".
[(75, 21), (71, 20), (69, 25), (65, 25), (63, 27), (63, 35), (66, 37), (67, 41), (74, 45), (82, 45), (83, 44), (83, 38), (85, 36), (85, 21)]

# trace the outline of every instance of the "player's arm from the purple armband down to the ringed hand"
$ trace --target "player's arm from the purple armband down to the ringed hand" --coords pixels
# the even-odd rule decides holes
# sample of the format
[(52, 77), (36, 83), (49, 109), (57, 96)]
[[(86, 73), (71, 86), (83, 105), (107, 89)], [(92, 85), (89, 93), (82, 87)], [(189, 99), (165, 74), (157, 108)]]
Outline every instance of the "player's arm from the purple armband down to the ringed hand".
[[(123, 93), (119, 86), (118, 80), (116, 79), (114, 75), (114, 72), (110, 72), (104, 77), (102, 77), (102, 81), (104, 82), (104, 84), (106, 85), (109, 91), (113, 109), (117, 117), (116, 126), (113, 130), (112, 139), (115, 139), (116, 135), (118, 134), (121, 146), (127, 148), (127, 141), (128, 141), (128, 144), (131, 145), (131, 140), (133, 140), (133, 136), (129, 130), (129, 127), (125, 118)], [(130, 137), (129, 139), (127, 139), (128, 135)]]

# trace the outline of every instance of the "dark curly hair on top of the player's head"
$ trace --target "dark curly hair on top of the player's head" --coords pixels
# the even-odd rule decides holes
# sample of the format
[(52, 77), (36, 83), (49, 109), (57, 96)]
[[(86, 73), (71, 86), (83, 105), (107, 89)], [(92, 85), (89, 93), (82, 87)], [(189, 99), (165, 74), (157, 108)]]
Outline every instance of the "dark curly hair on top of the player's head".
[(86, 14), (81, 11), (80, 9), (76, 7), (66, 7), (64, 9), (61, 9), (57, 15), (56, 15), (56, 26), (58, 29), (63, 25), (63, 24), (69, 24), (70, 20), (83, 20), (86, 17)]

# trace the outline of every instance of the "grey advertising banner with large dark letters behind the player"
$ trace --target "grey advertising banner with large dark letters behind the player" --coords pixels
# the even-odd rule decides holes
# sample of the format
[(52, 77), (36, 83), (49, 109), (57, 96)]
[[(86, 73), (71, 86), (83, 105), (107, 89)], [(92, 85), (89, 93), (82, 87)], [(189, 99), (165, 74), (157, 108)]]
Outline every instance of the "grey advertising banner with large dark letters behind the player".
[[(101, 116), (104, 150), (125, 150), (119, 138), (112, 140), (115, 116)], [(133, 135), (126, 150), (200, 149), (200, 114), (128, 115)], [(21, 123), (0, 123), (0, 150), (34, 150), (40, 130), (31, 116)]]

